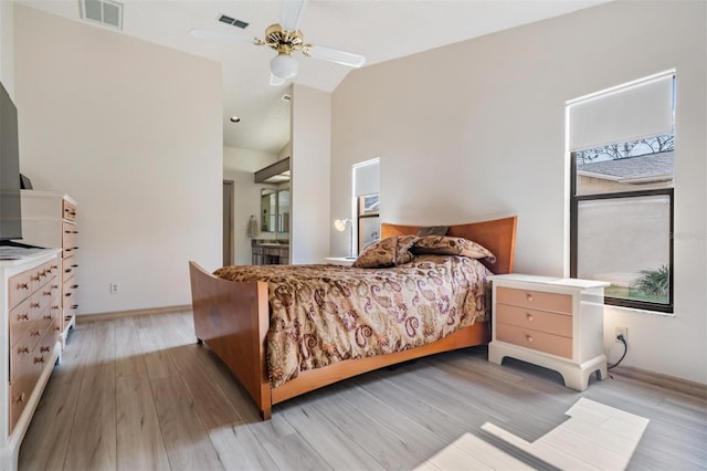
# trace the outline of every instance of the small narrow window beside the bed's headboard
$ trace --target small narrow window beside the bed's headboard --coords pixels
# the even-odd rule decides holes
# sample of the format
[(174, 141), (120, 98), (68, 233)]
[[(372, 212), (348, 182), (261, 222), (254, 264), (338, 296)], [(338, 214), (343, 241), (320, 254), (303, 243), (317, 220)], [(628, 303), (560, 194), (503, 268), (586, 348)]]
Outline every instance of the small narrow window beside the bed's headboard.
[(354, 166), (354, 205), (358, 253), (380, 239), (380, 160), (378, 158)]

